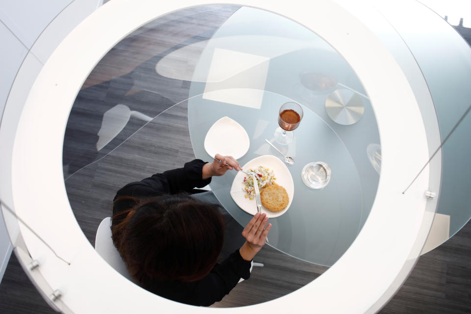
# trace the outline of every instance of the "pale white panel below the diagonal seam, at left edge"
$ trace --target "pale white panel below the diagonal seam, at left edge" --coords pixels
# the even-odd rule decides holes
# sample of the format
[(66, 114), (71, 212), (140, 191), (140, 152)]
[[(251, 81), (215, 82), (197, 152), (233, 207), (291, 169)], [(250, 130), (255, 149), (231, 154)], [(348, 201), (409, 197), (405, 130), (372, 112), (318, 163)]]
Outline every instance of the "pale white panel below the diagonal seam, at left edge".
[(3, 107), (11, 84), (15, 79), (16, 73), (20, 68), (23, 59), (28, 52), (25, 46), (13, 35), (13, 33), (3, 24), (0, 23), (0, 40), (2, 47), (8, 49), (0, 49), (0, 119), (3, 114)]

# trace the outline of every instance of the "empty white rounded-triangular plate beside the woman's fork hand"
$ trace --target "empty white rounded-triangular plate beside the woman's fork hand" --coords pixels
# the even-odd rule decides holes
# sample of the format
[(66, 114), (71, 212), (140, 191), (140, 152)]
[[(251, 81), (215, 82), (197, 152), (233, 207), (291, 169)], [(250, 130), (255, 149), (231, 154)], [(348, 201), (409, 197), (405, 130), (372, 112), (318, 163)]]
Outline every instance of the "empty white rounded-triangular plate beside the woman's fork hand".
[(249, 135), (245, 129), (229, 117), (217, 120), (205, 138), (205, 150), (211, 157), (221, 154), (238, 159), (247, 153), (249, 146)]

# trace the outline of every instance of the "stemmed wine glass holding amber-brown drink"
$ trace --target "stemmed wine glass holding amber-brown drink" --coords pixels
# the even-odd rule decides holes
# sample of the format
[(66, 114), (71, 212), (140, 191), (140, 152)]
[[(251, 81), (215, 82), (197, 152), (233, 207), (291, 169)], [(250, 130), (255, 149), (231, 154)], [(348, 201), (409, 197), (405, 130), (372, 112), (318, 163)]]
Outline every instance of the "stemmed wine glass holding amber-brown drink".
[(301, 105), (288, 102), (281, 105), (278, 112), (278, 125), (275, 130), (275, 141), (282, 145), (291, 143), (294, 138), (293, 130), (299, 126), (303, 118), (303, 108)]

